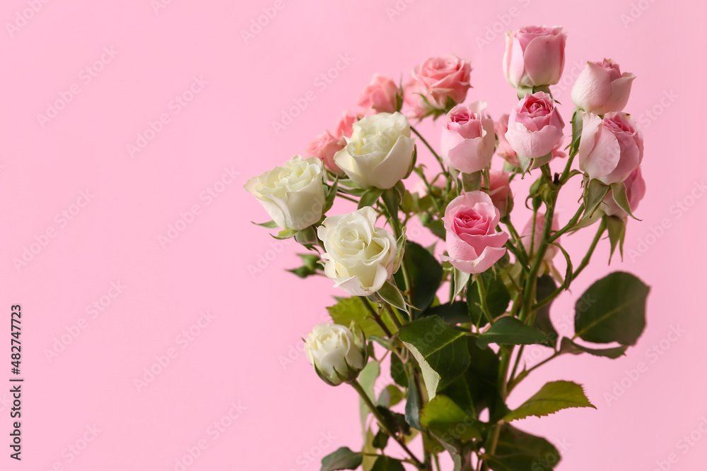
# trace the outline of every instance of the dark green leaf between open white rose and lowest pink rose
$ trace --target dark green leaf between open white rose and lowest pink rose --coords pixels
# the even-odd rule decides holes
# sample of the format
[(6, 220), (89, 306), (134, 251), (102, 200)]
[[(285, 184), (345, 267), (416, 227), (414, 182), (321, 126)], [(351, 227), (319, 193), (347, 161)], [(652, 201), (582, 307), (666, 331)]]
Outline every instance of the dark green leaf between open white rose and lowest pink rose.
[[(419, 317), (420, 311), (426, 311), (431, 306), (442, 283), (444, 270), (427, 249), (415, 242), (407, 242), (404, 257), (408, 261), (411, 281), (414, 286), (411, 303), (417, 308), (412, 310), (415, 318)], [(395, 282), (398, 286), (404, 286), (405, 279), (402, 270), (395, 273)]]

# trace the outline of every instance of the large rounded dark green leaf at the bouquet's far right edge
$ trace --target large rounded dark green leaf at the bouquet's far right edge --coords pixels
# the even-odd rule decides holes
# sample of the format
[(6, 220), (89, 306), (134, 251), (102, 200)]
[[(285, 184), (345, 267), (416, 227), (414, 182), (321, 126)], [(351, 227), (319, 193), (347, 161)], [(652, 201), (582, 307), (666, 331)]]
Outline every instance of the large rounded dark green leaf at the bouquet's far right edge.
[(575, 304), (575, 333), (594, 343), (635, 345), (645, 328), (645, 300), (650, 288), (626, 272), (609, 273)]

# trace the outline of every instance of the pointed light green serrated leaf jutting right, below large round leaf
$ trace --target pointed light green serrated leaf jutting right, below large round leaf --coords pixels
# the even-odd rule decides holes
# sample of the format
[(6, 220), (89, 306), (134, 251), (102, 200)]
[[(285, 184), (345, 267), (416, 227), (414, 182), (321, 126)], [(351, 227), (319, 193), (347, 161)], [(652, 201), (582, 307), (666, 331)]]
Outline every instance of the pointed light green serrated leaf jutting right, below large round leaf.
[(589, 402), (587, 396), (584, 395), (582, 386), (571, 381), (551, 381), (532, 395), (532, 398), (522, 403), (520, 407), (508, 412), (506, 417), (503, 417), (503, 420), (510, 422), (512, 420), (525, 419), (525, 417), (530, 415), (543, 417), (570, 407), (592, 407), (596, 409)]

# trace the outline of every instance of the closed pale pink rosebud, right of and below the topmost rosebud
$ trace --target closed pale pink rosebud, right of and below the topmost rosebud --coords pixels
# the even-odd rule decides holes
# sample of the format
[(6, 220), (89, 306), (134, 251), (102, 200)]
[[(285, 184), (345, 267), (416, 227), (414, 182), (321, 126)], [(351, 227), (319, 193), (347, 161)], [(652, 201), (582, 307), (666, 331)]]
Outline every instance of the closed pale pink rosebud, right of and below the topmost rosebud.
[(572, 87), (572, 101), (578, 108), (594, 114), (619, 112), (626, 107), (631, 93), (633, 73), (621, 73), (611, 59), (587, 62)]

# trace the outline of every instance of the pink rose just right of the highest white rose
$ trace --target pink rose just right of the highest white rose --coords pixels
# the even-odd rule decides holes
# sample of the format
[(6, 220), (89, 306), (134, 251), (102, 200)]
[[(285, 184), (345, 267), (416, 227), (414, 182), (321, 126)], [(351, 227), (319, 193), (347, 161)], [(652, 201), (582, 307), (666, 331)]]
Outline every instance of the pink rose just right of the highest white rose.
[(484, 117), (484, 102), (457, 105), (442, 129), (442, 160), (460, 172), (474, 173), (489, 165), (496, 136), (493, 119)]

